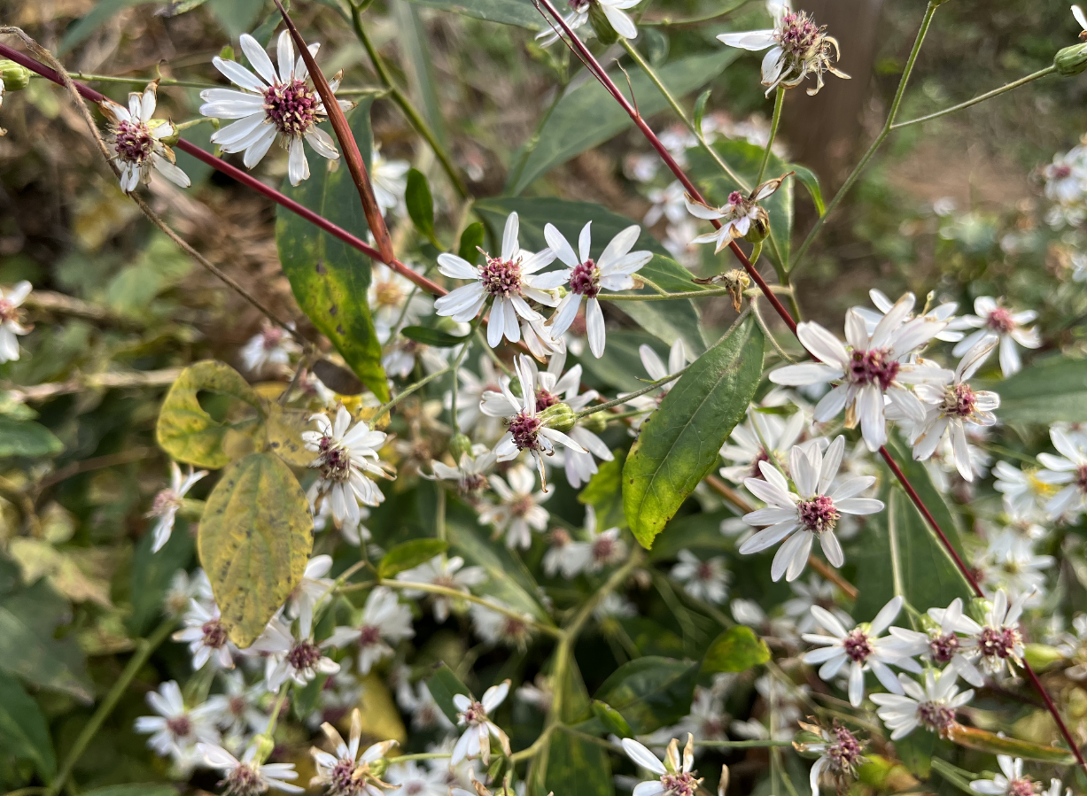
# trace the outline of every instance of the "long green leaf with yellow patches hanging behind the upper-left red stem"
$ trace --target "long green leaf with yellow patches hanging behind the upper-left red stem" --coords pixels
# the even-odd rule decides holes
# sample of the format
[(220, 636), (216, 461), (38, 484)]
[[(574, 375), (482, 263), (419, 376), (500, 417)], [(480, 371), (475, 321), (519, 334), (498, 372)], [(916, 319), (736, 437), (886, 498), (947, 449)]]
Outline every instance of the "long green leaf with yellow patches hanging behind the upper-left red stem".
[[(367, 165), (371, 101), (364, 99), (348, 116)], [(298, 187), (285, 185), (283, 192), (343, 229), (365, 231), (366, 218), (350, 169), (332, 170), (330, 162), (320, 160), (310, 179)], [(275, 237), (283, 271), (302, 312), (333, 342), (362, 383), (379, 401), (388, 401), (382, 344), (366, 304), (370, 258), (282, 206), (276, 211)]]

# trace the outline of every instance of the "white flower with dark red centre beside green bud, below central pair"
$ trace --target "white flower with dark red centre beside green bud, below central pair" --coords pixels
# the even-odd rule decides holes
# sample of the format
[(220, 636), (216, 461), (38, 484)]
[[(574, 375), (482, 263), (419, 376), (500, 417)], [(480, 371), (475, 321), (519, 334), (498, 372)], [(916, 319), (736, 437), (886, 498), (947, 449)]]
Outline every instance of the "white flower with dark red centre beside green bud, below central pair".
[[(544, 480), (544, 457), (554, 453), (555, 443), (571, 451), (588, 453), (582, 445), (558, 429), (550, 428), (537, 408), (536, 378), (532, 359), (521, 354), (514, 367), (521, 381), (521, 395), (515, 397), (510, 390), (509, 377), (502, 377), (501, 393), (484, 393), (479, 408), (485, 415), (507, 418), (508, 430), (495, 446), (499, 462), (511, 462), (524, 451), (532, 453)], [(610, 453), (610, 452), (609, 452)]]

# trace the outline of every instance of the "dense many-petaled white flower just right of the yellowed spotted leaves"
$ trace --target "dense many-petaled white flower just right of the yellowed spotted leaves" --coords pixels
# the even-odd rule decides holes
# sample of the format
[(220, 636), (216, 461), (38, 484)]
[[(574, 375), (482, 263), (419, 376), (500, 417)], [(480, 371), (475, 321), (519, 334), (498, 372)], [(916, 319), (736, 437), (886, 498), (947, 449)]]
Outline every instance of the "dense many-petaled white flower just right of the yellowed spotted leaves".
[(336, 412), (335, 424), (325, 415), (313, 415), (310, 419), (317, 424), (318, 430), (303, 431), (302, 441), (307, 451), (318, 454), (310, 467), (321, 473), (310, 488), (310, 505), (318, 494), (327, 492), (336, 522), (359, 522), (360, 502), (376, 506), (385, 500), (370, 476), (388, 477), (377, 455), (386, 433), (371, 431), (362, 420), (352, 428), (351, 413), (342, 405)]

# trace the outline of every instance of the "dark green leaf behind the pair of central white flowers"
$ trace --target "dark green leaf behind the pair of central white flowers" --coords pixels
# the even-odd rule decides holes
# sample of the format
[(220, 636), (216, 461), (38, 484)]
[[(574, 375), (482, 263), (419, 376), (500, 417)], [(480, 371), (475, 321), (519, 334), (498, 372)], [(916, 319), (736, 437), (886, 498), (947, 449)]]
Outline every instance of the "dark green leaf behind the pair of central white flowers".
[[(553, 224), (566, 240), (576, 244), (577, 237), (587, 222), (592, 222), (592, 247), (590, 253), (599, 257), (608, 242), (635, 222), (612, 213), (607, 207), (589, 202), (570, 202), (563, 199), (486, 199), (475, 203), (475, 211), (486, 222), (497, 239), (510, 213), (516, 212), (520, 219), (520, 242), (522, 248), (539, 251), (547, 248), (544, 227)], [(649, 277), (669, 291), (700, 290), (701, 286), (691, 281), (694, 275), (672, 260), (651, 235), (642, 232), (635, 249), (645, 249), (655, 255), (639, 275)], [(650, 288), (638, 291), (653, 293)], [(671, 345), (676, 338), (683, 338), (688, 353), (700, 353), (702, 333), (699, 328), (698, 312), (689, 300), (676, 301), (624, 301), (607, 302), (609, 311), (625, 313), (638, 326)], [(607, 356), (607, 351), (604, 356)], [(588, 358), (588, 357), (586, 357)], [(640, 374), (642, 368), (638, 367)]]

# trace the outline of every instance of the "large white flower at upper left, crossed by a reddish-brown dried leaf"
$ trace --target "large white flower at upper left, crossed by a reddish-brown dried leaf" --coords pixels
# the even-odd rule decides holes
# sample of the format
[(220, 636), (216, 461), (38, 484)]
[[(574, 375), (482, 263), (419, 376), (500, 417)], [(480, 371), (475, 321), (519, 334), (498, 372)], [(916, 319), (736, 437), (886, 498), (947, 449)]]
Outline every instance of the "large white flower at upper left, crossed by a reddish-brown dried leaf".
[[(297, 186), (310, 177), (303, 140), (322, 157), (339, 160), (336, 142), (317, 127), (328, 113), (310, 80), (305, 62), (301, 56), (295, 61), (295, 45), (289, 31), (279, 34), (276, 46), (278, 72), (252, 36), (242, 34), (239, 43), (260, 77), (235, 61), (217, 55), (212, 59), (215, 68), (241, 89), (209, 88), (200, 92), (204, 101), (200, 106), (201, 114), (238, 119), (215, 130), (212, 143), (218, 144), (224, 152), (245, 152), (243, 163), (247, 168), (252, 168), (261, 162), (272, 143), (280, 139), (289, 152), (287, 176), (290, 184)], [(310, 45), (309, 49), (316, 56), (318, 48), (320, 45)], [(339, 88), (342, 73), (339, 73), (328, 81), (333, 91)], [(354, 108), (353, 102), (337, 101), (345, 111)]]

